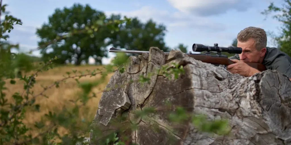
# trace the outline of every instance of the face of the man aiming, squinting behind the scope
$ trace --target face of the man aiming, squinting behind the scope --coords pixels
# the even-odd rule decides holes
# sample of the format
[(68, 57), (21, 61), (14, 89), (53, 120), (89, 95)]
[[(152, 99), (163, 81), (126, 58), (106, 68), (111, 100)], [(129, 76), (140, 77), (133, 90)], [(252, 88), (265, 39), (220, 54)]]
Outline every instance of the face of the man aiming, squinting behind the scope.
[(260, 51), (257, 50), (253, 39), (244, 42), (237, 41), (237, 47), (242, 48), (242, 53), (239, 54), (241, 61), (262, 63), (261, 58), (265, 56), (266, 48), (262, 48)]

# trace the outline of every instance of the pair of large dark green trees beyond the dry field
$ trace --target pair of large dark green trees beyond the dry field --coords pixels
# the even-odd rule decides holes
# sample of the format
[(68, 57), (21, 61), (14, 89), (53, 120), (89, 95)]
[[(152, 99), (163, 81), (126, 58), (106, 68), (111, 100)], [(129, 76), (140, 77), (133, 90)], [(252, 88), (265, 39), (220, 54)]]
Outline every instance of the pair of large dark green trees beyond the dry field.
[[(54, 63), (68, 61), (80, 65), (88, 63), (91, 56), (96, 64), (101, 64), (102, 58), (108, 56), (106, 47), (109, 45), (143, 51), (155, 46), (164, 52), (170, 51), (164, 42), (164, 25), (153, 20), (142, 23), (136, 17), (131, 23), (119, 24), (120, 21), (120, 15), (106, 17), (104, 12), (89, 5), (75, 3), (70, 8), (57, 8), (48, 22), (36, 31), (41, 38), (38, 45), (42, 59), (47, 61), (57, 56)], [(106, 23), (110, 25), (104, 25)]]

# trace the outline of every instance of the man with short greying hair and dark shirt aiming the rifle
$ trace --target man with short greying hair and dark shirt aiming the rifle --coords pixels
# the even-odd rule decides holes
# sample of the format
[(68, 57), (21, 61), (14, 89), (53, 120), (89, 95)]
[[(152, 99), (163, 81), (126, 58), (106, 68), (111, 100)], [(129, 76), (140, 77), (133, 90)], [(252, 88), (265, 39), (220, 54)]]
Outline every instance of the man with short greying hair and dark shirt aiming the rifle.
[(242, 48), (242, 53), (229, 58), (235, 63), (226, 67), (230, 73), (252, 76), (260, 71), (244, 62), (257, 62), (267, 69), (287, 75), (291, 81), (291, 58), (277, 48), (267, 47), (267, 34), (264, 29), (248, 27), (240, 31), (237, 34), (237, 47)]

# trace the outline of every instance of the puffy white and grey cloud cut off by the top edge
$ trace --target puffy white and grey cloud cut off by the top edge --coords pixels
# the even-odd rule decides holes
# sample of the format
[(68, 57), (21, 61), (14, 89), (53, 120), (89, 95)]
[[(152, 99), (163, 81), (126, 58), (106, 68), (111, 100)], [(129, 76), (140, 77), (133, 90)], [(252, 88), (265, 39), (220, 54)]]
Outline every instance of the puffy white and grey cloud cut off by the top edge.
[(196, 16), (211, 16), (229, 10), (246, 11), (252, 6), (251, 0), (167, 0), (181, 12)]

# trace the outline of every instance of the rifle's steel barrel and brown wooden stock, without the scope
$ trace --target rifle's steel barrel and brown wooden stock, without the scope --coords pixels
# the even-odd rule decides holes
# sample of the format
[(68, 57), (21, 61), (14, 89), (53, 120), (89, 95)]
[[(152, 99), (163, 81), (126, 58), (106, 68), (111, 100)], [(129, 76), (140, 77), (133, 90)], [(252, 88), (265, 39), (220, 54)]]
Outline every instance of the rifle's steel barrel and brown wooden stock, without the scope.
[[(132, 53), (132, 54), (142, 54), (142, 53), (149, 53), (149, 51), (136, 51), (136, 50), (120, 50), (116, 49), (114, 47), (109, 49), (109, 52), (123, 52), (123, 53)], [(169, 54), (170, 52), (164, 52), (165, 54)], [(221, 65), (230, 65), (234, 64), (233, 61), (227, 58), (226, 55), (210, 55), (210, 54), (194, 54), (194, 53), (185, 53), (191, 58), (194, 58), (196, 60), (200, 60), (205, 63), (209, 64), (221, 64)], [(267, 70), (266, 67), (263, 64), (255, 63), (255, 62), (245, 62), (252, 68), (255, 68), (259, 71)]]

